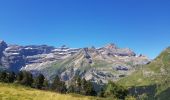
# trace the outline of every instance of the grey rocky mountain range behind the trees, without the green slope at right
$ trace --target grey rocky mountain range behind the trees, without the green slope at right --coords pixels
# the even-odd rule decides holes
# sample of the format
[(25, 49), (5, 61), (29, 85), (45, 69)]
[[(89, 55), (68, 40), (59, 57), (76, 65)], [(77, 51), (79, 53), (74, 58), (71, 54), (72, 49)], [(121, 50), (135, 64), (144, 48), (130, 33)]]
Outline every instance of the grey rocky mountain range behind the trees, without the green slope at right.
[(21, 70), (42, 73), (48, 80), (59, 75), (69, 81), (74, 76), (97, 84), (117, 81), (130, 75), (136, 67), (149, 63), (148, 57), (136, 55), (129, 48), (111, 43), (104, 47), (68, 48), (65, 45), (9, 45), (0, 41), (0, 66), (13, 72)]

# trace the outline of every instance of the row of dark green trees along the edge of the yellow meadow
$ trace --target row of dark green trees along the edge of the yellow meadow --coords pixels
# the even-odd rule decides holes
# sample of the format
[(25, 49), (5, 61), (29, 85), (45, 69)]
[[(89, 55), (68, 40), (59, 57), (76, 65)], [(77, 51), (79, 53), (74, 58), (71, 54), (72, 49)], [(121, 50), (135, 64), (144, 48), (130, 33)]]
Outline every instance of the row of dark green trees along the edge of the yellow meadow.
[(0, 82), (17, 83), (36, 89), (51, 90), (59, 93), (76, 93), (87, 96), (125, 99), (128, 94), (127, 89), (111, 81), (103, 86), (100, 91), (96, 92), (92, 82), (87, 81), (85, 78), (81, 79), (79, 76), (74, 77), (69, 85), (66, 85), (58, 75), (52, 83), (49, 83), (43, 74), (33, 77), (27, 71), (20, 71), (18, 74), (7, 71), (0, 72)]

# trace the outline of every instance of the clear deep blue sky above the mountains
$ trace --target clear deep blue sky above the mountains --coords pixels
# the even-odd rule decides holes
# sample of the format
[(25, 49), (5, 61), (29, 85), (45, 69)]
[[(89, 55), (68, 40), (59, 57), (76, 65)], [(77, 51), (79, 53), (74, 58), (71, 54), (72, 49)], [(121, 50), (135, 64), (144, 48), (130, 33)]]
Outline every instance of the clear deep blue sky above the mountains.
[(0, 0), (0, 39), (69, 47), (116, 43), (154, 58), (170, 46), (170, 1)]

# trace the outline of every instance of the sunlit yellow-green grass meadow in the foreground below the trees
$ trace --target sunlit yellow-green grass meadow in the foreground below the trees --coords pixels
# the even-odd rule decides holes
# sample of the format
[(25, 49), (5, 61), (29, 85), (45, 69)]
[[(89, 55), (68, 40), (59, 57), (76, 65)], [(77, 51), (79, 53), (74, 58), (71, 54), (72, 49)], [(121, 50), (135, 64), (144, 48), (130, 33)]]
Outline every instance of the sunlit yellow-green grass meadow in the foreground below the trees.
[(101, 100), (76, 94), (59, 94), (17, 84), (0, 83), (0, 100)]

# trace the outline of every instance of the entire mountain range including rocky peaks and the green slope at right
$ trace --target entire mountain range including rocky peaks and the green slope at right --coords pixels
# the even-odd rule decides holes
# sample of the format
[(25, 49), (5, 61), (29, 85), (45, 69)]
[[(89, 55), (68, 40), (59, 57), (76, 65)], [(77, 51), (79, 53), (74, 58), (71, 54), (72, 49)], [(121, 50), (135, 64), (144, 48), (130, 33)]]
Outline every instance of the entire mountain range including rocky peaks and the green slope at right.
[(169, 100), (170, 47), (155, 59), (137, 55), (129, 48), (110, 43), (95, 48), (69, 48), (65, 45), (9, 45), (0, 41), (0, 70), (25, 70), (43, 74), (52, 81), (56, 75), (69, 85), (75, 77), (90, 80), (96, 91), (108, 81), (128, 87), (139, 100)]

